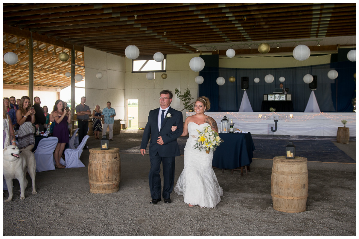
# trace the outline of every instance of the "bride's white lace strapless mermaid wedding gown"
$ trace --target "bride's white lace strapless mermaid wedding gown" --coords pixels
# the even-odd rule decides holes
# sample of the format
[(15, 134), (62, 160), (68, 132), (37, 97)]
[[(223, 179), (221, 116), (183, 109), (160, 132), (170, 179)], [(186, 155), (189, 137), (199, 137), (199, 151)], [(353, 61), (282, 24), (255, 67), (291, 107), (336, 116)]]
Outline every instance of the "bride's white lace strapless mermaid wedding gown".
[(199, 131), (202, 131), (204, 123), (197, 125), (188, 123), (189, 138), (185, 147), (185, 167), (177, 180), (174, 191), (183, 195), (186, 204), (199, 205), (201, 207), (216, 207), (223, 196), (223, 190), (219, 186), (217, 177), (212, 169), (213, 151), (194, 149)]

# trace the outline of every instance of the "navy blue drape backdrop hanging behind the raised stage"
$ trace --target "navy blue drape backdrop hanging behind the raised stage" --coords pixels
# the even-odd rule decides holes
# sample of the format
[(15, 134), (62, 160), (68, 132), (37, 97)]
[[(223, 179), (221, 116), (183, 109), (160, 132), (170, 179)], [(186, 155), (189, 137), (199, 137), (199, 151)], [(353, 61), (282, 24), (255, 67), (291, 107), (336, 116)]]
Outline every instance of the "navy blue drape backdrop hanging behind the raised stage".
[[(336, 80), (328, 78), (330, 70), (336, 70), (339, 76)], [(293, 108), (295, 112), (303, 112), (307, 106), (311, 90), (303, 81), (306, 74), (317, 76), (317, 90), (314, 91), (318, 105), (322, 112), (352, 112), (351, 99), (355, 97), (355, 62), (335, 62), (316, 66), (289, 67), (289, 68), (219, 68), (205, 67), (200, 71), (204, 82), (199, 85), (199, 96), (207, 96), (211, 101), (210, 111), (238, 111), (241, 105), (243, 90), (241, 90), (241, 77), (249, 77), (248, 98), (253, 111), (260, 111), (264, 94), (271, 94), (275, 88), (279, 88), (279, 77), (285, 77), (284, 88), (289, 88), (288, 94), (292, 94)], [(264, 77), (268, 74), (274, 76), (272, 83), (266, 83)], [(218, 86), (216, 79), (222, 76), (225, 84)], [(229, 82), (230, 76), (236, 77), (235, 82)], [(254, 78), (260, 78), (255, 83)]]

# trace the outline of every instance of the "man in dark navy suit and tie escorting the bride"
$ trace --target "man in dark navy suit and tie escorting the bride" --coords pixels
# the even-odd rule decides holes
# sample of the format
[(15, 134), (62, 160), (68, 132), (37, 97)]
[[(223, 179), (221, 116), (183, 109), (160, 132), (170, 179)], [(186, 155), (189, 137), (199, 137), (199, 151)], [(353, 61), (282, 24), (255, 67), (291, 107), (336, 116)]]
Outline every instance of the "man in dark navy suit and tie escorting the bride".
[[(148, 175), (152, 200), (150, 204), (157, 204), (161, 201), (161, 177), (159, 175), (162, 161), (163, 167), (163, 192), (162, 197), (165, 203), (171, 203), (170, 194), (174, 184), (174, 158), (180, 156), (180, 147), (177, 138), (183, 132), (183, 117), (178, 110), (172, 109), (169, 105), (172, 102), (172, 92), (163, 90), (160, 92), (159, 104), (161, 107), (151, 110), (148, 115), (142, 142), (141, 154), (145, 155), (148, 140), (151, 169)], [(172, 132), (172, 126), (177, 126)]]

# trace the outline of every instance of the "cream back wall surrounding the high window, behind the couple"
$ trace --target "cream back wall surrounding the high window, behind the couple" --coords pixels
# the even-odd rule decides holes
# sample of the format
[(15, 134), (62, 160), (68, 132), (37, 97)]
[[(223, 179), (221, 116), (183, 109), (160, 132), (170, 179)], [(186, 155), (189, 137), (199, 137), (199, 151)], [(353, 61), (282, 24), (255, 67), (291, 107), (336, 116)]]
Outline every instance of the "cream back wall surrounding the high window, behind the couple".
[[(197, 54), (173, 54), (167, 55), (167, 78), (162, 79), (162, 73), (155, 73), (154, 80), (147, 80), (146, 73), (131, 73), (132, 60), (126, 58), (126, 84), (125, 99), (138, 99), (139, 104), (139, 128), (145, 128), (150, 110), (159, 107), (159, 92), (162, 90), (171, 90), (173, 100), (171, 107), (176, 110), (182, 110), (183, 104), (174, 94), (177, 88), (182, 93), (187, 87), (190, 89), (194, 99), (197, 98), (198, 85), (195, 77), (198, 72), (191, 70), (189, 62)], [(183, 110), (183, 121), (186, 117), (186, 111)]]

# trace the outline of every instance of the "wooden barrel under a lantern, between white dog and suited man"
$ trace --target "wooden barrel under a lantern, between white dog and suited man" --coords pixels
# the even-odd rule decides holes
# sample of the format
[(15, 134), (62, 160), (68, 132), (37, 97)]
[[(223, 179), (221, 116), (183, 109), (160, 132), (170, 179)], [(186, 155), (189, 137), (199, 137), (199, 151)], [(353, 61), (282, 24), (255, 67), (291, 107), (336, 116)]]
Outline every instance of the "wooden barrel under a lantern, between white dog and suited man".
[(121, 159), (118, 148), (89, 149), (89, 183), (92, 193), (112, 193), (120, 188)]

